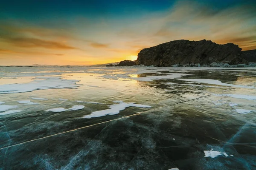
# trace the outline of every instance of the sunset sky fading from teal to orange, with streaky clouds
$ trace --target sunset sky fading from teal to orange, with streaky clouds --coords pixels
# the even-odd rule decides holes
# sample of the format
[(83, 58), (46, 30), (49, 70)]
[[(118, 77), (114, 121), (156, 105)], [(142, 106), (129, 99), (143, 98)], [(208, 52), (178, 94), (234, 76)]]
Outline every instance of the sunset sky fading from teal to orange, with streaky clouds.
[(136, 59), (172, 40), (256, 49), (255, 0), (4, 0), (0, 65), (93, 65)]

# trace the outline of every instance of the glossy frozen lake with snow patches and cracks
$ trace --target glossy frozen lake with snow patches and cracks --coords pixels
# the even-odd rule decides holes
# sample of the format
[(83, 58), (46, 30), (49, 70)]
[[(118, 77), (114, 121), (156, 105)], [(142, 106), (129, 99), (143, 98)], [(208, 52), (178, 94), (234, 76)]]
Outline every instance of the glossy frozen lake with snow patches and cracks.
[(256, 68), (0, 67), (0, 169), (256, 169)]

